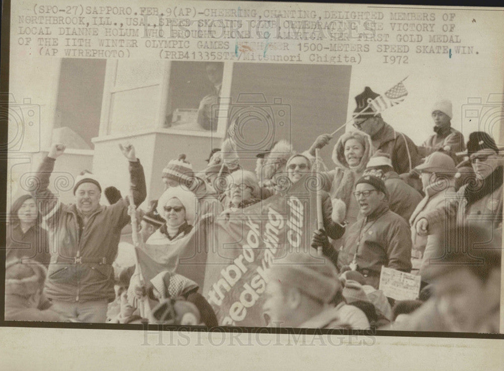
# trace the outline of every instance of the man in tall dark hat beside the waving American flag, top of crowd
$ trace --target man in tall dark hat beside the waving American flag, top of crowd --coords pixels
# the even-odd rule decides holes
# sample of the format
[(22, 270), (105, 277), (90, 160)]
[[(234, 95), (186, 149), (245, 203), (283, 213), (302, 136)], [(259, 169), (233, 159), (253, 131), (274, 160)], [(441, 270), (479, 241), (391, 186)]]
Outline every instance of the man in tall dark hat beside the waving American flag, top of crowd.
[[(379, 97), (369, 87), (355, 97), (357, 108), (354, 110), (353, 126), (369, 134), (373, 153), (381, 150), (388, 153), (392, 166), (398, 174), (408, 173), (420, 164), (420, 154), (413, 141), (405, 134), (394, 130), (386, 123), (382, 115), (374, 111), (369, 101)], [(367, 108), (366, 108), (367, 107)]]

